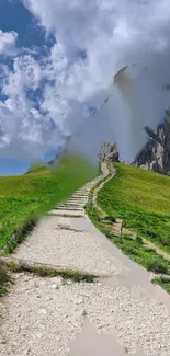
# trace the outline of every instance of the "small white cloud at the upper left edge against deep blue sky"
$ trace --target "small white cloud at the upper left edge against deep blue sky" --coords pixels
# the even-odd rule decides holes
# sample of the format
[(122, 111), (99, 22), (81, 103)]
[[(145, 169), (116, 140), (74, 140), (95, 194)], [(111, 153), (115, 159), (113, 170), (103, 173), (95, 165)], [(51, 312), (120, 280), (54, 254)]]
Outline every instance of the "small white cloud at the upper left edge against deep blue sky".
[(3, 32), (0, 30), (0, 55), (12, 56), (16, 48), (16, 32)]

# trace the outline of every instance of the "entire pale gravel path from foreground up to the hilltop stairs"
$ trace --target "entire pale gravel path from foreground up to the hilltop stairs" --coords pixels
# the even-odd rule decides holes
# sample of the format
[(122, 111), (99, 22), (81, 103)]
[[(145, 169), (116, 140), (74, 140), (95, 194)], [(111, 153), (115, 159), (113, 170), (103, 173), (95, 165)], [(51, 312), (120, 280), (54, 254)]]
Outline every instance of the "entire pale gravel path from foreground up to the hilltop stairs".
[(111, 278), (77, 284), (15, 275), (13, 290), (1, 301), (0, 355), (170, 355), (170, 298), (86, 218), (91, 185), (70, 198), (70, 209), (63, 206), (71, 215), (78, 200), (82, 217), (44, 218), (14, 256)]

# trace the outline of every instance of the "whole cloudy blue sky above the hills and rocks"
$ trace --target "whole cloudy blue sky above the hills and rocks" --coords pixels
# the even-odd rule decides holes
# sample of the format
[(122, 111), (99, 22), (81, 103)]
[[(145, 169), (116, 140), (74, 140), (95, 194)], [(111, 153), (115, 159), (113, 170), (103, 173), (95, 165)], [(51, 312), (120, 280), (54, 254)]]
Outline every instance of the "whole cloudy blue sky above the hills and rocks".
[(170, 102), (169, 31), (169, 0), (0, 0), (0, 174), (53, 158), (69, 135), (87, 157), (116, 140), (133, 160)]

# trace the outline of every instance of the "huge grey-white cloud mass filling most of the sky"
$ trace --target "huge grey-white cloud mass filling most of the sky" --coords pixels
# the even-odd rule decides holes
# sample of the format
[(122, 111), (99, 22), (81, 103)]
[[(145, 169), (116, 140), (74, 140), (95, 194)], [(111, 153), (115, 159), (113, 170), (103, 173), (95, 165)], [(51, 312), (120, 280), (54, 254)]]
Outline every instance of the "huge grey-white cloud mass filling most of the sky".
[[(170, 80), (169, 0), (23, 3), (47, 35), (53, 32), (56, 44), (39, 60), (20, 50), (13, 70), (3, 68), (2, 92), (9, 99), (3, 103), (5, 108), (0, 108), (0, 120), (11, 142), (4, 145), (4, 150), (7, 147), (10, 154), (10, 145), (19, 147), (20, 142), (23, 154), (29, 147), (27, 154), (34, 154), (33, 147), (41, 154), (49, 146), (57, 146), (57, 129), (64, 134), (75, 131), (86, 119), (84, 142), (89, 150), (107, 135), (118, 140), (123, 157), (132, 159), (146, 139), (143, 127), (155, 126), (170, 100), (161, 90), (162, 83)], [(95, 118), (87, 118), (84, 108), (99, 105), (111, 90), (116, 71), (134, 62), (137, 66), (129, 70), (133, 83), (128, 101), (125, 103), (115, 90), (112, 102)]]

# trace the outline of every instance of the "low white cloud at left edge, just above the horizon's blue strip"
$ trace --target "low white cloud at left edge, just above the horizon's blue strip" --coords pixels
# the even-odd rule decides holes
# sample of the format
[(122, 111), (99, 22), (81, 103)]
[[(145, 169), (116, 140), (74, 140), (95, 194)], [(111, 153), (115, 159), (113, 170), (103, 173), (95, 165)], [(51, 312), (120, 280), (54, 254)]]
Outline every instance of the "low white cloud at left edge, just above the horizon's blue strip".
[(58, 130), (27, 101), (0, 102), (0, 156), (42, 159), (47, 150), (61, 143)]

